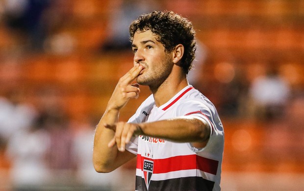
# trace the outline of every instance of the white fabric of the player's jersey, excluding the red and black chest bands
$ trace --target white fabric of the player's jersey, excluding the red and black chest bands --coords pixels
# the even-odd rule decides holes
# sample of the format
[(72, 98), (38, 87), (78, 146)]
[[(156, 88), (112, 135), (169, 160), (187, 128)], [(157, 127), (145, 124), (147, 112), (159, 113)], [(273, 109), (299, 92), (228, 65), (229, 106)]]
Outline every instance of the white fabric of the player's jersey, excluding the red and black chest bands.
[[(171, 106), (168, 107), (168, 105)], [(153, 174), (151, 180), (165, 180), (172, 177), (184, 177), (185, 175), (201, 176), (204, 179), (215, 182), (213, 191), (219, 191), (224, 149), (224, 130), (214, 105), (198, 90), (189, 85), (160, 107), (155, 106), (153, 96), (151, 95), (141, 104), (128, 122), (152, 122), (186, 115), (199, 117), (209, 124), (211, 135), (204, 148), (195, 148), (191, 143), (174, 143), (167, 140), (139, 136), (131, 140), (131, 143), (127, 145), (127, 150), (135, 155), (140, 155), (151, 160), (198, 155), (218, 161), (217, 171), (214, 175), (200, 171), (199, 169), (187, 169)], [(144, 178), (144, 173), (139, 168), (136, 170), (136, 175)]]

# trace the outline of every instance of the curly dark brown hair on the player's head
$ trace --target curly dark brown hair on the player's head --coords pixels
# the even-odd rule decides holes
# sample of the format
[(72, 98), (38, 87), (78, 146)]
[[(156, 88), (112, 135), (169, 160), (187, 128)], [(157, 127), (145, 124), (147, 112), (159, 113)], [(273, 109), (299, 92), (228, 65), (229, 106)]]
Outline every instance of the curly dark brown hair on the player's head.
[(186, 74), (192, 69), (196, 41), (195, 30), (190, 21), (172, 11), (153, 11), (139, 16), (131, 23), (129, 28), (130, 41), (133, 42), (136, 31), (146, 30), (151, 30), (152, 33), (158, 35), (156, 40), (165, 47), (167, 53), (171, 52), (178, 44), (182, 44), (185, 48), (181, 59), (182, 69)]

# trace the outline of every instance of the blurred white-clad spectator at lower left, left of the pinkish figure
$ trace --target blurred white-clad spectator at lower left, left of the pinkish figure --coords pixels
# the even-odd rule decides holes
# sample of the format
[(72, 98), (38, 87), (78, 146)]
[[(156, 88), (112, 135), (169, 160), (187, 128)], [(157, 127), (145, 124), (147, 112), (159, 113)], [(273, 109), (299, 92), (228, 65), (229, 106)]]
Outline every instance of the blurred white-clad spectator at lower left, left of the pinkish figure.
[(7, 156), (11, 160), (11, 179), (14, 189), (37, 188), (50, 178), (46, 164), (49, 135), (39, 123), (18, 130), (8, 142)]

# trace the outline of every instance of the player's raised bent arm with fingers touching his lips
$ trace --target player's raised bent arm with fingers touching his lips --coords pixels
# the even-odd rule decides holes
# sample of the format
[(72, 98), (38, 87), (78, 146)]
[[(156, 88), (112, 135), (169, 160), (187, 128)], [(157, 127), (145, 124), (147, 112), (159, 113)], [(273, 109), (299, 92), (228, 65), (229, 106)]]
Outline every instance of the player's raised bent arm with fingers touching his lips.
[(116, 146), (108, 146), (108, 143), (115, 136), (115, 129), (109, 129), (105, 126), (116, 124), (119, 112), (127, 104), (128, 100), (138, 97), (140, 90), (138, 86), (131, 85), (131, 83), (142, 69), (142, 66), (136, 64), (119, 79), (106, 110), (96, 127), (93, 164), (95, 170), (98, 172), (110, 172), (135, 157), (135, 155), (130, 152), (118, 152)]

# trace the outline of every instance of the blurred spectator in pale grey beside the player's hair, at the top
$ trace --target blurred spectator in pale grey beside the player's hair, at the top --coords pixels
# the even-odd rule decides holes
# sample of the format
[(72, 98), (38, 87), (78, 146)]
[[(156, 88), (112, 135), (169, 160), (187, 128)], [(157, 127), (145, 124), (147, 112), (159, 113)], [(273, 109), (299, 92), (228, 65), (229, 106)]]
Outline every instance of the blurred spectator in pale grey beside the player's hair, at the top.
[(110, 1), (114, 11), (109, 16), (109, 35), (102, 44), (102, 51), (125, 50), (131, 48), (129, 25), (139, 15), (158, 9), (157, 1), (116, 0)]

